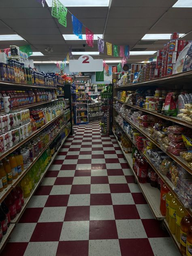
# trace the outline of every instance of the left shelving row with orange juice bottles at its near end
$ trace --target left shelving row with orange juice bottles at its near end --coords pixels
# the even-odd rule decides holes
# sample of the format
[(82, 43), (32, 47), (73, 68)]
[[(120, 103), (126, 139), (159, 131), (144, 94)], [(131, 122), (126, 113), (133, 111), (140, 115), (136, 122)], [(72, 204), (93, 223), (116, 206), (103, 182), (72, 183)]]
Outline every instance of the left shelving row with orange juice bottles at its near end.
[[(26, 170), (36, 157), (47, 147), (59, 130), (66, 124), (64, 117), (58, 118), (45, 130), (30, 139), (27, 143), (13, 151), (0, 162), (0, 191), (13, 183), (21, 173)], [(64, 132), (68, 134), (70, 123), (64, 127)]]

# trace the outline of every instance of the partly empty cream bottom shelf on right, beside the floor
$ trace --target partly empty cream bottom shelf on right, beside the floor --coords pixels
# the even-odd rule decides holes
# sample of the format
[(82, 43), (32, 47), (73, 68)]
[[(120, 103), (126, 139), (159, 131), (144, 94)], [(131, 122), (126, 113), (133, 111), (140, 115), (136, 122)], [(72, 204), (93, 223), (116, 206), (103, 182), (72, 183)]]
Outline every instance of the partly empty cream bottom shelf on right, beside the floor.
[[(113, 131), (113, 134), (115, 135), (114, 131)], [(117, 140), (116, 135), (115, 135), (115, 138)], [(151, 185), (149, 183), (140, 183), (139, 182), (137, 175), (135, 174), (135, 172), (132, 168), (132, 154), (126, 154), (123, 151), (122, 145), (121, 145), (121, 143), (119, 143), (118, 140), (117, 140), (117, 143), (119, 144), (119, 147), (121, 147), (122, 152), (130, 166), (130, 169), (138, 183), (138, 186), (141, 189), (143, 196), (145, 196), (145, 199), (146, 199), (152, 213), (154, 214), (154, 217), (157, 220), (163, 220), (165, 218), (165, 216), (163, 216), (160, 212), (160, 191), (157, 188), (151, 187)]]

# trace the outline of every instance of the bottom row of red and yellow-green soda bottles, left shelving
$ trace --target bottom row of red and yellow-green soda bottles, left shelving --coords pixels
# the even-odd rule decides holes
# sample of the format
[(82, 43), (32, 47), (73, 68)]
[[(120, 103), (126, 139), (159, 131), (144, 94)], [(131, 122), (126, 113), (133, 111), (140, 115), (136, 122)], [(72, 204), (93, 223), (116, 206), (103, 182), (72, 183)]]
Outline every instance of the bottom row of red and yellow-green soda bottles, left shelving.
[[(49, 147), (41, 155), (41, 157), (36, 161), (28, 173), (21, 179), (20, 183), (13, 188), (11, 192), (6, 196), (5, 200), (0, 205), (0, 241), (3, 235), (6, 234), (7, 229), (14, 220), (17, 214), (21, 212), (24, 205), (24, 198), (28, 198), (36, 183), (38, 183), (41, 178), (42, 173), (51, 162), (51, 158), (58, 151), (58, 148), (62, 145), (62, 140), (70, 132), (70, 124), (62, 128), (58, 136), (52, 141)], [(18, 158), (18, 157), (17, 157)], [(9, 160), (6, 160), (9, 161)], [(0, 173), (3, 172), (3, 164), (0, 163)]]

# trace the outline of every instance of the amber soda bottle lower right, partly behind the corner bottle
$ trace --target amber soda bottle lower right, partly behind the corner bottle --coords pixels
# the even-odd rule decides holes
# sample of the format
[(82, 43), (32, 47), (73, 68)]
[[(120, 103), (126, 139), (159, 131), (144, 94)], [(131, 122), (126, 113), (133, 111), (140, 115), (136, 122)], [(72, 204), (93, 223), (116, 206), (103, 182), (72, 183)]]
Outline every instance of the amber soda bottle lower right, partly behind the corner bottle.
[(191, 216), (183, 217), (181, 220), (180, 249), (184, 255), (186, 255), (187, 233), (190, 226), (192, 226), (192, 217)]

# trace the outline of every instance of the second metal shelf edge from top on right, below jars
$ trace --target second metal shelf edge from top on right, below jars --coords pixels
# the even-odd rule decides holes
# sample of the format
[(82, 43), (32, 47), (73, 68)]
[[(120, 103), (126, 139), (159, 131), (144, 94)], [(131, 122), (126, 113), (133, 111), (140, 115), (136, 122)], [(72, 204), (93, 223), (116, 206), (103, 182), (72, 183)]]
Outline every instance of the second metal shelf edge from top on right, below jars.
[(151, 111), (151, 110), (148, 110), (148, 109), (143, 109), (143, 108), (141, 108), (141, 107), (138, 107), (138, 106), (135, 106), (135, 105), (131, 105), (131, 104), (128, 104), (128, 103), (126, 103), (126, 102), (123, 102), (123, 101), (121, 101), (121, 100), (118, 100), (117, 98), (115, 98), (115, 97), (113, 97), (115, 100), (117, 100), (118, 102), (121, 102), (122, 104), (125, 104), (125, 105), (127, 105), (127, 106), (129, 106), (129, 107), (132, 107), (132, 108), (134, 108), (134, 109), (138, 109), (138, 110), (141, 110), (141, 111), (143, 111), (143, 112), (147, 112), (147, 113), (149, 113), (149, 114), (151, 114), (151, 115), (156, 115), (156, 116), (158, 116), (158, 117), (160, 117), (160, 118), (163, 118), (163, 119), (165, 119), (165, 120), (168, 120), (168, 121), (171, 121), (171, 122), (175, 122), (175, 123), (177, 123), (177, 124), (181, 124), (181, 125), (183, 125), (183, 126), (187, 126), (187, 127), (189, 127), (189, 128), (192, 128), (192, 124), (190, 124), (190, 123), (187, 123), (187, 122), (185, 122), (185, 121), (183, 121), (181, 118), (179, 118), (179, 117), (169, 117), (169, 116), (166, 116), (166, 115), (162, 115), (162, 114), (160, 114), (160, 113), (157, 113), (156, 111)]

